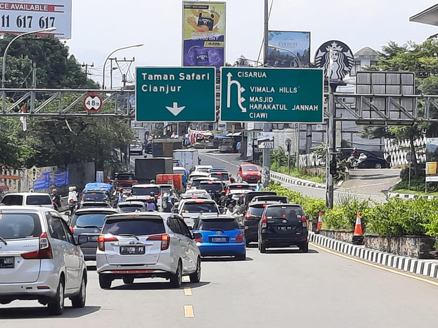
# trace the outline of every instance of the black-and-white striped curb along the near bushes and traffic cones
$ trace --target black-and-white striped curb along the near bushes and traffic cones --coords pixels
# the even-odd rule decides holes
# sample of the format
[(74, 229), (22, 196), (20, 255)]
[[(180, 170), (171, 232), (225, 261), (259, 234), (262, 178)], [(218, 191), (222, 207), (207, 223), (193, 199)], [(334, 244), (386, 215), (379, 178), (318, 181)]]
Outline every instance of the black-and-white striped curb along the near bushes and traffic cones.
[(345, 243), (344, 241), (337, 241), (336, 239), (315, 234), (314, 232), (309, 232), (309, 240), (315, 244), (333, 249), (333, 251), (381, 264), (385, 267), (438, 279), (438, 262), (430, 262), (428, 260), (419, 260), (407, 256), (398, 256), (384, 251), (376, 251), (375, 249), (366, 248), (365, 246), (357, 246)]

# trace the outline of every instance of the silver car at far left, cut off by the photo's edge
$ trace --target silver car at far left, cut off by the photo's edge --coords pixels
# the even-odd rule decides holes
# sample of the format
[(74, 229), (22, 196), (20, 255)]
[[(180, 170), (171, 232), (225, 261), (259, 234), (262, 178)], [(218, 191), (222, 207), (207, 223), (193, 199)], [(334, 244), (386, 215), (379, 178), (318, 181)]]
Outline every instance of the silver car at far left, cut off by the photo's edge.
[(38, 300), (62, 314), (86, 303), (87, 267), (79, 243), (55, 210), (34, 206), (0, 208), (0, 304)]

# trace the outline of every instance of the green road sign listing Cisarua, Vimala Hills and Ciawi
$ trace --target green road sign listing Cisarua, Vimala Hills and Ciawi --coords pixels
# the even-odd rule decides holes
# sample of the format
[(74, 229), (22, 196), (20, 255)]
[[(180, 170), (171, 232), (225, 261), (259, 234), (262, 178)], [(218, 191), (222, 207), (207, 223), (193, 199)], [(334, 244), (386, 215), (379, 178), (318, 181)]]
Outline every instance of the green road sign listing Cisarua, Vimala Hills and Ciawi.
[(322, 123), (323, 70), (229, 68), (220, 71), (220, 120)]

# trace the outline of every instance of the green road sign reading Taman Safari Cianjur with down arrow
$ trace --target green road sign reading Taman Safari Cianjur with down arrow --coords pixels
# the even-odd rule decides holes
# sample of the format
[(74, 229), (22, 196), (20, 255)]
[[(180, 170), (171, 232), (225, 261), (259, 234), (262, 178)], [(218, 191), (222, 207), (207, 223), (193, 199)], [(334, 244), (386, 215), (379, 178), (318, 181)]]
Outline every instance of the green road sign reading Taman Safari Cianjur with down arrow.
[(138, 122), (214, 122), (216, 68), (136, 68)]

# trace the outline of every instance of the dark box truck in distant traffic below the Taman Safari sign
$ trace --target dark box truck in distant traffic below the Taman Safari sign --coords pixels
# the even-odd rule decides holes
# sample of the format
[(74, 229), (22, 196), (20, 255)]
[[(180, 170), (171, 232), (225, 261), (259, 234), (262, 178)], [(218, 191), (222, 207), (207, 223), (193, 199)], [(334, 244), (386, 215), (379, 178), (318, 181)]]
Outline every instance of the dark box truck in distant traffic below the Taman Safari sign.
[(139, 184), (150, 183), (157, 174), (173, 174), (172, 157), (136, 159), (136, 180)]

